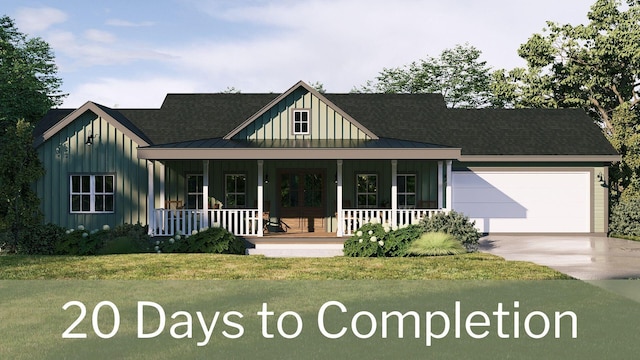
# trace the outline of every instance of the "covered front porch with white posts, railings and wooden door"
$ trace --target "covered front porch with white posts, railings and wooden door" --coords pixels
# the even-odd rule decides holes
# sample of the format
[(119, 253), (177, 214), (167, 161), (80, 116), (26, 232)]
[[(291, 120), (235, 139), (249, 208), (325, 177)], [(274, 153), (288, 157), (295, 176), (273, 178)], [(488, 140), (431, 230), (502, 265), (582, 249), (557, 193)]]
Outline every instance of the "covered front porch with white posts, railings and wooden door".
[[(149, 233), (344, 237), (448, 211), (451, 160), (148, 160)], [(340, 199), (340, 201), (338, 201)]]

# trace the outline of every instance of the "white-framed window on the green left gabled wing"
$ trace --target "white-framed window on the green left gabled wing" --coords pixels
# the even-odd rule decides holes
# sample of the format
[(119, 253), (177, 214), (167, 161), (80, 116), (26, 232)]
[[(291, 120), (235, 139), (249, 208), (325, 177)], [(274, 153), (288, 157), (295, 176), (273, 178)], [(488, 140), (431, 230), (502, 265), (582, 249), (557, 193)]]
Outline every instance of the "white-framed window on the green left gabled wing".
[(112, 213), (115, 175), (71, 175), (70, 212)]

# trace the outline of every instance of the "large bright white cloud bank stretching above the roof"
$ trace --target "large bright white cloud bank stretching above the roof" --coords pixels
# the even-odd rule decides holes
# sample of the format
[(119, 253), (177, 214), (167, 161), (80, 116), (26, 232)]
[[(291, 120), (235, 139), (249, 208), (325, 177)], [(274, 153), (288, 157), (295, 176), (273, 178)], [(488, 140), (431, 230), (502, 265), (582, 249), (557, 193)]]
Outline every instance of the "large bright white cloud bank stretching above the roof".
[[(158, 107), (167, 92), (218, 92), (228, 86), (244, 93), (280, 92), (298, 80), (322, 82), (329, 92), (348, 92), (384, 67), (437, 56), (465, 42), (480, 49), (490, 66), (513, 68), (522, 65), (518, 46), (541, 31), (545, 20), (584, 22), (588, 11), (584, 0), (397, 0), (393, 4), (287, 0), (250, 5), (212, 0), (211, 4), (204, 9), (214, 17), (211, 23), (242, 28), (242, 36), (230, 31), (226, 39), (208, 40), (203, 36), (211, 30), (195, 23), (193, 28), (184, 25), (190, 33), (185, 32), (178, 45), (157, 43), (161, 39), (156, 38), (141, 44), (119, 40), (105, 46), (97, 42), (109, 39), (105, 33), (94, 33), (93, 42), (77, 39), (73, 33), (52, 33), (56, 51), (62, 49), (73, 64), (127, 64), (128, 73), (146, 76), (124, 79), (122, 67), (104, 67), (102, 74), (112, 71), (113, 75), (75, 86), (65, 105), (96, 100), (108, 106)], [(107, 23), (144, 24), (115, 19)], [(92, 81), (91, 74), (85, 77)]]

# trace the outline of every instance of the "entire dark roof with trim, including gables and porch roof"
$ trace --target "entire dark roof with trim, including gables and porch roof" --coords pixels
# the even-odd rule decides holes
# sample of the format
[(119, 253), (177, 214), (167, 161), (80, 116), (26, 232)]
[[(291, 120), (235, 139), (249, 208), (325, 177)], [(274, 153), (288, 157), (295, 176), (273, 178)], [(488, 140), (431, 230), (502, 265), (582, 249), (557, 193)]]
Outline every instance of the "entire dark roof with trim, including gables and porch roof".
[[(422, 154), (428, 149), (448, 149), (448, 154), (457, 149), (464, 161), (619, 159), (600, 129), (580, 109), (447, 109), (439, 94), (320, 94), (304, 82), (283, 94), (168, 94), (159, 109), (110, 109), (88, 102), (76, 110), (51, 110), (34, 134), (42, 142), (80, 114), (93, 111), (135, 136), (144, 154), (194, 147), (229, 149), (228, 140), (234, 134), (300, 88), (370, 135), (372, 142), (358, 145), (358, 151), (379, 152), (381, 144), (411, 151), (407, 144), (422, 144), (414, 146)], [(240, 149), (269, 151), (296, 148), (287, 141), (234, 144)], [(309, 150), (330, 147), (329, 143), (307, 145)], [(333, 146), (354, 149), (344, 142)]]

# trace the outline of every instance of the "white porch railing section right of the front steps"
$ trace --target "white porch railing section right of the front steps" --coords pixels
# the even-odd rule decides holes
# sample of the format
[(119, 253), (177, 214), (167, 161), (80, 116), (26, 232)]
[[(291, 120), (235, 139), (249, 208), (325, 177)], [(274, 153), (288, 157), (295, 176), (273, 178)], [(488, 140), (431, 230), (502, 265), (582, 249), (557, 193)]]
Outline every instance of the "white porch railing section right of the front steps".
[[(398, 209), (396, 210), (395, 225), (397, 227), (417, 225), (423, 217), (431, 217), (445, 211), (445, 209)], [(372, 221), (394, 225), (393, 210), (391, 209), (343, 209), (341, 215), (344, 224), (343, 236), (353, 235), (362, 225)]]

